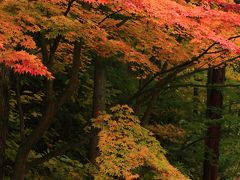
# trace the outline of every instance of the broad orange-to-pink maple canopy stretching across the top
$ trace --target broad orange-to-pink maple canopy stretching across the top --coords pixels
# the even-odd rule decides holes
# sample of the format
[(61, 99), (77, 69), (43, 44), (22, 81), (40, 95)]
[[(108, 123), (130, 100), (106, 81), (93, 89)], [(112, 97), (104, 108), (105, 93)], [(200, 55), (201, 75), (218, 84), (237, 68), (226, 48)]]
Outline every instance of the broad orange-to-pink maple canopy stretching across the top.
[[(227, 49), (231, 56), (240, 53), (239, 44), (228, 40), (239, 33), (238, 12), (226, 12), (221, 6), (212, 8), (211, 3), (199, 1), (197, 7), (171, 0), (84, 0), (89, 3), (86, 9), (76, 0), (65, 17), (69, 2), (42, 0), (32, 1), (28, 6), (27, 0), (4, 1), (0, 15), (1, 50), (14, 51), (18, 46), (22, 50), (34, 49), (35, 44), (27, 32), (41, 32), (49, 42), (61, 35), (69, 43), (84, 40), (86, 49), (104, 58), (120, 54), (120, 60), (134, 64), (132, 69), (144, 71), (144, 76), (159, 71), (158, 64), (150, 60), (152, 56), (169, 64), (179, 64), (197, 56), (211, 42), (219, 44), (218, 49)], [(109, 12), (99, 9), (103, 5), (108, 6)], [(106, 14), (114, 11), (129, 19), (123, 22), (112, 16), (106, 18)], [(224, 60), (216, 56), (218, 54), (209, 55), (195, 65), (205, 67)], [(211, 58), (215, 60), (210, 61)]]

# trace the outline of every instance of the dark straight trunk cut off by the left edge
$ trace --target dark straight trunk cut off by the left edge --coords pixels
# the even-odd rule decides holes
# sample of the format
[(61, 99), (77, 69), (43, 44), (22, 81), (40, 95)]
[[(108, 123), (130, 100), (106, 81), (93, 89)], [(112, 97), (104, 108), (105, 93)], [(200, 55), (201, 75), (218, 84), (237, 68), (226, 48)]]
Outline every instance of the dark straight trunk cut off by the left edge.
[(9, 74), (5, 67), (0, 67), (0, 179), (4, 178), (5, 149), (8, 123)]

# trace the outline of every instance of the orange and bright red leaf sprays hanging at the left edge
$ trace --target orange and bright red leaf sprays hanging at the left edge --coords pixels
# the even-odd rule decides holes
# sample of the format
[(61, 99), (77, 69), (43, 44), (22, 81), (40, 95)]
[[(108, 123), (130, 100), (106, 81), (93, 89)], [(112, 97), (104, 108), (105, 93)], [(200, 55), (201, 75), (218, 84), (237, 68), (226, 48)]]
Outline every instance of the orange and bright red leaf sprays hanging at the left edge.
[(17, 46), (34, 49), (36, 45), (32, 37), (24, 35), (22, 27), (14, 23), (11, 16), (0, 12), (0, 63), (4, 63), (16, 73), (29, 73), (53, 78), (37, 56), (30, 55), (26, 51), (14, 50)]

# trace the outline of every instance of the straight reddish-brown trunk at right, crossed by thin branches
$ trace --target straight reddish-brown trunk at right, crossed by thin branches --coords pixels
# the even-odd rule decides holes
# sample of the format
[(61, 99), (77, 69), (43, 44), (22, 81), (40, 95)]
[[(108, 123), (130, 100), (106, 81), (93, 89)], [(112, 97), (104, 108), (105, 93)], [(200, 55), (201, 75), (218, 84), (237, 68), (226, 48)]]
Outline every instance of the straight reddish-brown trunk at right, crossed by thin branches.
[[(208, 84), (224, 84), (225, 67), (208, 70)], [(212, 121), (222, 117), (223, 94), (219, 88), (207, 90), (207, 118)], [(205, 159), (203, 163), (203, 180), (218, 179), (219, 142), (221, 126), (218, 123), (211, 123), (205, 139)]]

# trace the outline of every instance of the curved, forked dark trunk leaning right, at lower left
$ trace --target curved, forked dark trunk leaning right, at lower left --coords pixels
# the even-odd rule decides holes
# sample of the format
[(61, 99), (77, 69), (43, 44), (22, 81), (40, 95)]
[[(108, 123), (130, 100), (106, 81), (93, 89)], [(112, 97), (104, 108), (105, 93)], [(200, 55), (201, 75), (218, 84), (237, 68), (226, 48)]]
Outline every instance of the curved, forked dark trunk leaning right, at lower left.
[(73, 65), (71, 70), (71, 76), (64, 94), (58, 99), (53, 98), (53, 82), (48, 81), (48, 97), (47, 97), (47, 107), (43, 114), (43, 118), (39, 122), (38, 126), (32, 131), (32, 133), (25, 138), (23, 143), (18, 149), (18, 153), (15, 159), (14, 171), (12, 180), (24, 180), (25, 171), (27, 169), (27, 159), (28, 154), (33, 148), (33, 146), (39, 141), (39, 139), (48, 130), (51, 123), (54, 120), (54, 116), (58, 109), (72, 96), (78, 87), (78, 72), (80, 67), (80, 57), (81, 57), (81, 45), (76, 43), (73, 51)]

